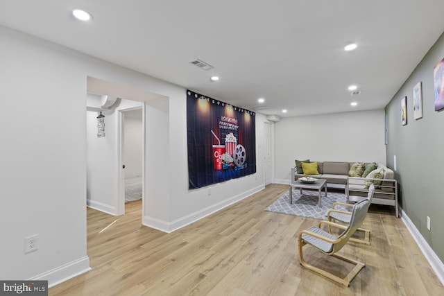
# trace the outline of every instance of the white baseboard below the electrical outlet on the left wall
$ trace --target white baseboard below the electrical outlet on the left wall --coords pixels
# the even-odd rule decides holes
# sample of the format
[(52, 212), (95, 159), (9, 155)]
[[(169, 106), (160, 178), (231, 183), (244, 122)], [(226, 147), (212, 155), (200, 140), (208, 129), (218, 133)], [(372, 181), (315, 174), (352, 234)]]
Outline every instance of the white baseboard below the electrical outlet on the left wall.
[(89, 267), (89, 257), (85, 256), (83, 258), (77, 259), (76, 261), (69, 262), (65, 265), (49, 270), (40, 275), (32, 277), (29, 281), (48, 281), (48, 288), (56, 286), (63, 281), (77, 277), (85, 272), (91, 270)]

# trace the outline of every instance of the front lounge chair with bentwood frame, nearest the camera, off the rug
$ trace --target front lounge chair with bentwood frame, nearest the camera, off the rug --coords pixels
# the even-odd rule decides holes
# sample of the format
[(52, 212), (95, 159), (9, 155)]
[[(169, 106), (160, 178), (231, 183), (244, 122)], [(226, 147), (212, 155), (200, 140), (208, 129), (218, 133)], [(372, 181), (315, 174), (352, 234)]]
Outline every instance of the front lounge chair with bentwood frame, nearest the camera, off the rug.
[[(355, 231), (361, 226), (364, 218), (366, 218), (369, 206), (370, 202), (368, 202), (367, 199), (357, 202), (357, 204), (355, 204), (352, 209), (350, 223), (348, 224), (348, 226), (332, 223), (331, 221), (321, 221), (318, 223), (317, 227), (313, 226), (307, 230), (302, 230), (301, 232), (299, 232), (298, 251), (300, 264), (303, 267), (318, 273), (319, 275), (323, 275), (324, 277), (332, 279), (339, 284), (343, 284), (343, 286), (350, 286), (350, 282), (357, 276), (359, 271), (361, 271), (361, 269), (365, 267), (365, 263), (362, 263), (355, 259), (350, 259), (340, 254), (336, 254), (336, 252), (342, 249), (342, 247), (350, 240), (350, 236), (352, 236), (352, 234), (354, 234)], [(339, 236), (336, 236), (321, 229), (322, 225), (337, 227), (339, 229), (342, 229), (343, 232), (339, 234)], [(323, 252), (323, 254), (334, 256), (345, 262), (352, 263), (355, 265), (355, 267), (348, 273), (348, 275), (341, 278), (337, 275), (332, 274), (331, 272), (327, 272), (326, 270), (318, 268), (314, 265), (310, 265), (309, 263), (305, 262), (302, 254), (302, 248), (307, 244), (315, 247), (317, 250)]]

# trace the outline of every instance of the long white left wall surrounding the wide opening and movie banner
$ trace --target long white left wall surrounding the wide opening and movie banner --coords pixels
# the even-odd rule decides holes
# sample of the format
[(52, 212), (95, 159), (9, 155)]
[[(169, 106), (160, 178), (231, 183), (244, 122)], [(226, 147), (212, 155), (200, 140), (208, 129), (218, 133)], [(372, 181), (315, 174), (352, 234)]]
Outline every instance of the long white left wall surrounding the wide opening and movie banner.
[[(171, 231), (264, 187), (257, 149), (255, 175), (212, 186), (210, 196), (206, 188), (188, 190), (185, 88), (1, 26), (0, 48), (0, 225), (7, 238), (0, 279), (48, 279), (51, 286), (88, 269), (88, 77), (162, 95), (128, 97), (146, 101), (146, 225)], [(257, 116), (257, 135), (263, 120)], [(158, 159), (162, 166), (151, 166)], [(40, 235), (39, 250), (24, 254), (32, 234)]]

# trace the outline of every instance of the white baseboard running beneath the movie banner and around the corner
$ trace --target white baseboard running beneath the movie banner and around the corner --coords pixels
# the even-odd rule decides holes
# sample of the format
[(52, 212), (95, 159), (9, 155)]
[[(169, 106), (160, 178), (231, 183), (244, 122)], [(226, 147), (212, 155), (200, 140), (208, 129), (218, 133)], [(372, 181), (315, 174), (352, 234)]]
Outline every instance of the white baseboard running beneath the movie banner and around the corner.
[(209, 216), (216, 211), (220, 211), (221, 209), (228, 207), (230, 204), (234, 204), (235, 202), (239, 202), (239, 200), (243, 200), (244, 198), (248, 198), (248, 196), (253, 195), (254, 193), (257, 193), (263, 189), (265, 189), (265, 186), (264, 186), (264, 184), (261, 184), (260, 186), (257, 186), (253, 189), (250, 189), (250, 190), (240, 193), (238, 195), (234, 195), (231, 198), (227, 198), (226, 200), (223, 200), (223, 201), (218, 202), (216, 204), (212, 204), (210, 207), (206, 207), (205, 209), (200, 209), (199, 211), (196, 211), (196, 212), (191, 213), (187, 216), (178, 218), (178, 219), (173, 220), (171, 222), (159, 220), (157, 218), (153, 218), (153, 217), (149, 217), (149, 216), (144, 216), (142, 224), (145, 226), (160, 230), (161, 232), (171, 233), (171, 232), (176, 231), (177, 229), (180, 229), (180, 228), (185, 227), (191, 223), (194, 223), (197, 220), (200, 220), (206, 216)]

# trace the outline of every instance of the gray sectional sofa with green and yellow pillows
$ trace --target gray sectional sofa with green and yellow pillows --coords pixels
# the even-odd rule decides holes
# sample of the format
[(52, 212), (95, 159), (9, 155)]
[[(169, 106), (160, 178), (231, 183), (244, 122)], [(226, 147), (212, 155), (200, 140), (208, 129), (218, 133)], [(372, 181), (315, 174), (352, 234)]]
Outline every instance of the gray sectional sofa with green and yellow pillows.
[[(384, 176), (380, 178), (350, 177), (349, 171), (354, 162), (317, 162), (318, 175), (310, 175), (318, 179), (327, 180), (328, 188), (344, 189), (348, 202), (357, 202), (366, 198), (369, 182), (375, 182), (375, 194), (373, 204), (385, 204), (395, 207), (398, 218), (398, 182), (395, 180), (395, 173), (384, 166), (377, 164), (377, 168), (383, 168)], [(293, 184), (303, 174), (298, 174), (296, 166), (291, 168), (291, 183)]]

